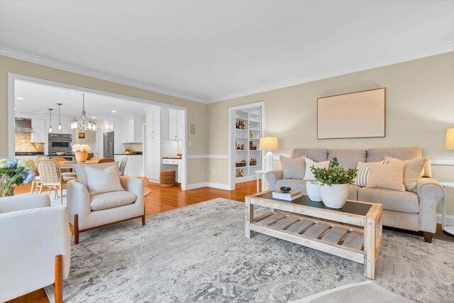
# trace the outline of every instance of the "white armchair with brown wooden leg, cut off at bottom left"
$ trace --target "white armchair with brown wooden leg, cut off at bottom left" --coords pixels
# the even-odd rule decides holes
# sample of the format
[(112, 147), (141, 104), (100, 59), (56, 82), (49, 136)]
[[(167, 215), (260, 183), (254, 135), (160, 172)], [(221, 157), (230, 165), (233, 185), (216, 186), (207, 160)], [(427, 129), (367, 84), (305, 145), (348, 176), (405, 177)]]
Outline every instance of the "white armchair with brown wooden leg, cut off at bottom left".
[(66, 207), (50, 207), (47, 194), (0, 198), (0, 302), (53, 283), (62, 302), (70, 238)]

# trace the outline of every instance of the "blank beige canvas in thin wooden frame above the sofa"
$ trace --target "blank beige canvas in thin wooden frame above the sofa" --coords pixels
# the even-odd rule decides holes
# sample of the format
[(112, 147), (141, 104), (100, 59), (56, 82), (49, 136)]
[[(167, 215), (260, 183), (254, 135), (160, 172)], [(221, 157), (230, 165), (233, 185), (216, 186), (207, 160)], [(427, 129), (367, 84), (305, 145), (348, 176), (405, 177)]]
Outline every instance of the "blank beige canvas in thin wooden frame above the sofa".
[(317, 138), (384, 137), (385, 89), (317, 99)]

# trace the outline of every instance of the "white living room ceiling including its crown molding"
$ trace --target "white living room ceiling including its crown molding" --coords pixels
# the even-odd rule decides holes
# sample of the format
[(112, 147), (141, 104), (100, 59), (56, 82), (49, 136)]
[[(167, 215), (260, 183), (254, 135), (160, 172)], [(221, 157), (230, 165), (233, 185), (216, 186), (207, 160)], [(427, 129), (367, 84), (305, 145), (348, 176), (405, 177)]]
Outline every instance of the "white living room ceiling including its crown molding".
[(453, 0), (0, 0), (0, 53), (218, 101), (454, 50)]

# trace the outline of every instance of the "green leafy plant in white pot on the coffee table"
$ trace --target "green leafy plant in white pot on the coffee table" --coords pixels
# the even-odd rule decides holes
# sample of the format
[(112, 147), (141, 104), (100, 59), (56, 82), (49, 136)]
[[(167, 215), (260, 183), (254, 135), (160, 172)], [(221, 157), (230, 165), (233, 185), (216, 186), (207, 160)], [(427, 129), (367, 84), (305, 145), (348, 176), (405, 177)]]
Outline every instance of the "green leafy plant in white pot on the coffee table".
[(339, 165), (339, 161), (336, 157), (329, 162), (328, 168), (316, 168), (312, 165), (311, 172), (322, 186), (324, 184), (327, 184), (328, 186), (331, 186), (332, 184), (353, 184), (353, 180), (358, 174), (356, 168), (345, 170)]

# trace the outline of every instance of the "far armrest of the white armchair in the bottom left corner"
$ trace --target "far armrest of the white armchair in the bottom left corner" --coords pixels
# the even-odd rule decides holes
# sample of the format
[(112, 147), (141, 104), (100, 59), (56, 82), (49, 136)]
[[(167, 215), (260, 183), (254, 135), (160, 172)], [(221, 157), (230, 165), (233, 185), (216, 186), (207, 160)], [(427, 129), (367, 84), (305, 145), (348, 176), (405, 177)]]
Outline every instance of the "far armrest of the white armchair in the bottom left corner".
[(50, 206), (48, 194), (19, 194), (0, 198), (0, 214), (22, 209), (36, 209)]

